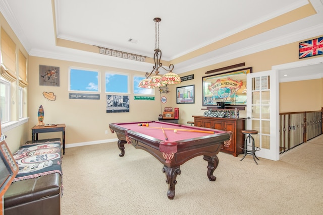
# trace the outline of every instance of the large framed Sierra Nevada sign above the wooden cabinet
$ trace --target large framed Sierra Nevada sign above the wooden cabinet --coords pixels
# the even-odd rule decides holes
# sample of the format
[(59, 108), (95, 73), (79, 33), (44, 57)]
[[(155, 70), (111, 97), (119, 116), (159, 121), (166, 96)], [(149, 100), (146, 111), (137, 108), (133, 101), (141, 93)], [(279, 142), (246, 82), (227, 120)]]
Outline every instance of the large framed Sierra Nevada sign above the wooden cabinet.
[(246, 106), (249, 73), (252, 67), (202, 77), (203, 106), (217, 106), (217, 102), (224, 102), (225, 106)]

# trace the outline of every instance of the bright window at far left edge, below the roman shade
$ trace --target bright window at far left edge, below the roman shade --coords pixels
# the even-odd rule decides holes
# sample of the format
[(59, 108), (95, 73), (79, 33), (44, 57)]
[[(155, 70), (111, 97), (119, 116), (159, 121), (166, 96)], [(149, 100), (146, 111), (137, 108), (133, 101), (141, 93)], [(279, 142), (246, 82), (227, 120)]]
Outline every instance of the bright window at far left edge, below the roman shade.
[(10, 120), (10, 82), (3, 78), (0, 81), (0, 118), (5, 123)]

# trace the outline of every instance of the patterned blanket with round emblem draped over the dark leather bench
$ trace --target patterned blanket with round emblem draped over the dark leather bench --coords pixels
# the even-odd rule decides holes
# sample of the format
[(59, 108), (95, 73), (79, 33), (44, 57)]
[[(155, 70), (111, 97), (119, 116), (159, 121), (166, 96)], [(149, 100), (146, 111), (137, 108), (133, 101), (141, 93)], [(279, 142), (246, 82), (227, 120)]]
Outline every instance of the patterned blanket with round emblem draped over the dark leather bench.
[(13, 157), (19, 167), (14, 181), (37, 178), (51, 173), (62, 175), (60, 141), (24, 145), (13, 154)]

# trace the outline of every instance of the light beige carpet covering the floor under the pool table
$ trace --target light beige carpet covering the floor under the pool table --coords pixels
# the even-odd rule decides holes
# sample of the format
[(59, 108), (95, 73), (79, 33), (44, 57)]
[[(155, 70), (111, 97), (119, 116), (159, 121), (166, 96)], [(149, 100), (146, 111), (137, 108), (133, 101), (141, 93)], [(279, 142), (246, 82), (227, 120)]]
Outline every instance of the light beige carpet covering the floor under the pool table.
[(217, 180), (202, 156), (183, 164), (175, 198), (168, 199), (163, 164), (117, 143), (67, 148), (63, 158), (65, 214), (322, 214), (323, 135), (280, 161), (219, 153)]

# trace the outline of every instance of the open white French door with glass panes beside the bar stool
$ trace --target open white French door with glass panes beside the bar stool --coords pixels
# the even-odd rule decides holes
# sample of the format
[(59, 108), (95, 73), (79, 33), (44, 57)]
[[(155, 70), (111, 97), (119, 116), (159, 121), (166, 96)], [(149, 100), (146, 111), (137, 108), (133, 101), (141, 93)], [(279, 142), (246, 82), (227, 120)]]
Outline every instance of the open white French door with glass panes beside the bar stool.
[(246, 129), (253, 134), (259, 158), (279, 160), (279, 82), (276, 70), (247, 74)]

